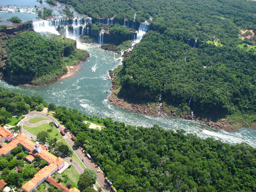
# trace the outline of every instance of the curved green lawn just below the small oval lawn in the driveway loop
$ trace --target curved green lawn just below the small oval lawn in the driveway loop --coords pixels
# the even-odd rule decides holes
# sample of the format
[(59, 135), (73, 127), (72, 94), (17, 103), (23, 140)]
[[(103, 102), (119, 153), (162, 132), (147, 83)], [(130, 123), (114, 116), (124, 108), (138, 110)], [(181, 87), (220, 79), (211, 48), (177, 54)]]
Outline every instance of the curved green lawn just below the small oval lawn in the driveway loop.
[(37, 135), (39, 132), (41, 131), (46, 131), (47, 130), (52, 130), (52, 132), (48, 132), (49, 135), (52, 138), (57, 138), (57, 140), (62, 139), (62, 136), (60, 135), (59, 131), (55, 128), (55, 127), (51, 127), (49, 125), (49, 123), (44, 123), (44, 124), (40, 124), (38, 126), (26, 126), (25, 124), (23, 125), (23, 129), (25, 129), (26, 131), (28, 131), (29, 133), (32, 133), (33, 135)]

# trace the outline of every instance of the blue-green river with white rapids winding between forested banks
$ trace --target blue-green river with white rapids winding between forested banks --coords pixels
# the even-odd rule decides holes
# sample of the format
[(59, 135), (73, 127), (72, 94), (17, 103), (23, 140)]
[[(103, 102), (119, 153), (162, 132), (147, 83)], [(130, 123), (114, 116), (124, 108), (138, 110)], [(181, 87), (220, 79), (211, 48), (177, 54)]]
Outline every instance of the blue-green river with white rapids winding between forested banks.
[[(2, 2), (0, 1), (0, 5), (5, 5)], [(38, 2), (35, 2), (35, 4), (38, 4)], [(52, 102), (59, 106), (66, 106), (68, 109), (78, 109), (87, 115), (110, 117), (114, 121), (136, 126), (150, 127), (158, 124), (164, 129), (183, 129), (186, 133), (196, 134), (200, 138), (212, 137), (230, 144), (245, 142), (256, 147), (256, 130), (252, 128), (242, 128), (239, 131), (229, 133), (211, 129), (209, 126), (196, 121), (175, 117), (144, 116), (111, 105), (108, 101), (110, 93), (106, 93), (111, 89), (111, 82), (107, 80), (109, 78), (108, 71), (121, 65), (121, 55), (102, 50), (98, 44), (80, 44), (78, 42), (77, 47), (87, 50), (90, 57), (87, 61), (81, 63), (80, 71), (74, 76), (61, 79), (50, 86), (11, 86), (4, 81), (0, 81), (0, 86), (24, 95), (40, 96), (48, 103)], [(92, 69), (96, 69), (95, 72)], [(204, 131), (201, 132), (200, 129)]]

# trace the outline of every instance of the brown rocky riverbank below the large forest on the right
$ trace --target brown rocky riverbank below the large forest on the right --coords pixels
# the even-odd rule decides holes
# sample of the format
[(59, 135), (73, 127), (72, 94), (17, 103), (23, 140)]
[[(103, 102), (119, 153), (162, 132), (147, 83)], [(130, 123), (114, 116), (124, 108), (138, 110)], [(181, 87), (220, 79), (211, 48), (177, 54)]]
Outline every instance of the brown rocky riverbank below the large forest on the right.
[[(112, 73), (110, 72), (112, 76)], [(239, 130), (241, 127), (234, 126), (230, 124), (228, 119), (219, 119), (218, 121), (212, 121), (211, 119), (199, 119), (195, 115), (181, 115), (178, 114), (175, 110), (169, 110), (167, 106), (163, 106), (162, 103), (153, 103), (153, 102), (145, 102), (145, 103), (136, 103), (136, 101), (131, 100), (129, 98), (119, 98), (118, 93), (120, 89), (115, 86), (112, 78), (112, 89), (111, 95), (108, 97), (109, 101), (112, 105), (117, 106), (118, 108), (133, 111), (136, 113), (140, 113), (142, 115), (154, 116), (154, 117), (177, 117), (184, 118), (187, 120), (194, 120), (200, 123), (204, 123), (214, 129), (217, 130), (225, 130), (228, 132), (233, 132)], [(256, 124), (252, 124), (252, 128), (256, 129)]]

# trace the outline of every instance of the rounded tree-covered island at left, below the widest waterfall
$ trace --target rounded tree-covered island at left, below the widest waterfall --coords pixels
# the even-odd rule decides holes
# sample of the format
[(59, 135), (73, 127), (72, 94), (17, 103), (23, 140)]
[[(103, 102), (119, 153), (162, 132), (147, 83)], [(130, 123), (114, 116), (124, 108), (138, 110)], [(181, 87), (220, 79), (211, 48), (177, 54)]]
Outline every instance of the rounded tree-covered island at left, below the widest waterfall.
[(89, 56), (87, 51), (76, 49), (75, 40), (62, 36), (26, 31), (15, 37), (2, 33), (1, 37), (3, 78), (13, 84), (49, 84), (67, 73), (66, 66)]

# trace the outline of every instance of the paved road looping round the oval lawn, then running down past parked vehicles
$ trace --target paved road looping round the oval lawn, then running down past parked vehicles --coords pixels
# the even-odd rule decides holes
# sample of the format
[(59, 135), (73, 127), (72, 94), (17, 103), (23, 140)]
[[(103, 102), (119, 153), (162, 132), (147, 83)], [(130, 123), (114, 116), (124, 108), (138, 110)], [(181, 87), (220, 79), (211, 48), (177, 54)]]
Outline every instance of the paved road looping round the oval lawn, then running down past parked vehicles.
[[(28, 122), (29, 119), (31, 118), (34, 118), (34, 117), (45, 117), (45, 118), (48, 118), (48, 120), (44, 120), (44, 121), (40, 121), (38, 123), (35, 123), (35, 124), (30, 124)], [(49, 122), (57, 122), (57, 120), (55, 118), (53, 118), (52, 116), (50, 115), (47, 115), (45, 113), (40, 113), (40, 112), (29, 112), (28, 114), (25, 115), (25, 118), (21, 121), (18, 122), (18, 125), (20, 125), (22, 127), (22, 133), (25, 133), (27, 134), (28, 136), (30, 136), (31, 138), (35, 139), (36, 140), (36, 136), (34, 136), (33, 134), (27, 132), (26, 130), (23, 129), (23, 125), (27, 125), (27, 126), (38, 126), (42, 123), (49, 123)], [(60, 130), (63, 130), (64, 131), (65, 127), (64, 126), (59, 126), (58, 128), (58, 131), (60, 132)], [(82, 151), (76, 147), (74, 145), (74, 142), (72, 141), (71, 139), (71, 134), (68, 132), (65, 136), (63, 136), (63, 138), (67, 141), (67, 143), (70, 145), (70, 147), (73, 149), (74, 153), (77, 155), (77, 157), (79, 158), (79, 160), (82, 162), (82, 159), (84, 160), (84, 162), (82, 162), (82, 164), (84, 166), (86, 166), (87, 168), (90, 168), (90, 169), (93, 169), (95, 171), (99, 170), (100, 168), (91, 160), (89, 160), (87, 157), (84, 156), (84, 154), (82, 153)], [(66, 157), (65, 158), (67, 161), (70, 162), (70, 158), (69, 157)], [(83, 173), (83, 168), (78, 164), (78, 162), (76, 161), (72, 161), (71, 162), (75, 167), (76, 169), (78, 170), (79, 174), (82, 174)], [(110, 191), (110, 186), (105, 182), (105, 177), (104, 177), (104, 174), (103, 172), (100, 170), (99, 173), (97, 173), (97, 179), (96, 179), (96, 182), (99, 184), (99, 186), (102, 188), (102, 190), (104, 192), (107, 192), (107, 191)]]

